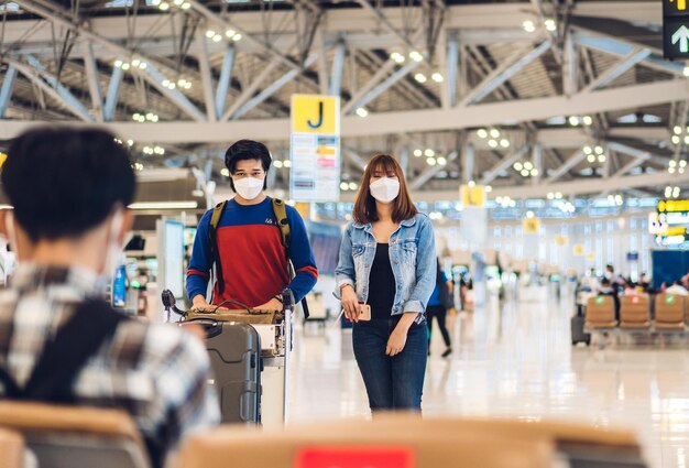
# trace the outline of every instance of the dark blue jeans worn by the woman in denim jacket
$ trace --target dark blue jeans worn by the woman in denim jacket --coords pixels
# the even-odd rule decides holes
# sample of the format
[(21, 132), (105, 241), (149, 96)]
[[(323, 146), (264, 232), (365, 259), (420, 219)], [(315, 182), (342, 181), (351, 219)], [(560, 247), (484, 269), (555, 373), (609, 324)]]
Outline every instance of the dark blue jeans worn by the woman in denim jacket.
[(428, 359), (426, 324), (412, 324), (402, 352), (385, 355), (390, 335), (402, 316), (354, 324), (354, 357), (369, 394), (371, 411), (422, 410)]

